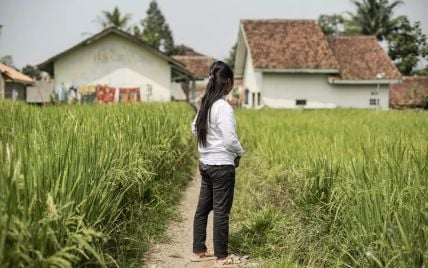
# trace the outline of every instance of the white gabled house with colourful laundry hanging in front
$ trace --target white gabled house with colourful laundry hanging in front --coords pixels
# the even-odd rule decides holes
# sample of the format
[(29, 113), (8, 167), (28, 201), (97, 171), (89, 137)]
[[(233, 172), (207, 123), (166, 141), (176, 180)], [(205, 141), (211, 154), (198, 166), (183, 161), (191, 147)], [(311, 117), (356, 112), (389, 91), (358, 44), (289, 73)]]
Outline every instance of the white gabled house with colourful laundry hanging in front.
[(170, 101), (174, 82), (191, 80), (183, 64), (110, 27), (38, 65), (55, 87), (140, 88), (142, 101)]

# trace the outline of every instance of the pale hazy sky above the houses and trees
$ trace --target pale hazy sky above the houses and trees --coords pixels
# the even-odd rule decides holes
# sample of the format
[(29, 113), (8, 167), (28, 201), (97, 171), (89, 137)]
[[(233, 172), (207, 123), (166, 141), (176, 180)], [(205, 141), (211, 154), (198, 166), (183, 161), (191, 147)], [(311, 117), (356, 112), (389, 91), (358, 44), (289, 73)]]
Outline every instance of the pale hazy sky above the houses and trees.
[[(0, 57), (15, 65), (36, 65), (99, 32), (103, 10), (145, 18), (150, 0), (0, 0)], [(175, 44), (224, 59), (238, 36), (240, 19), (317, 19), (320, 14), (353, 11), (350, 0), (157, 0)], [(420, 21), (428, 35), (428, 1), (404, 0), (395, 15)]]

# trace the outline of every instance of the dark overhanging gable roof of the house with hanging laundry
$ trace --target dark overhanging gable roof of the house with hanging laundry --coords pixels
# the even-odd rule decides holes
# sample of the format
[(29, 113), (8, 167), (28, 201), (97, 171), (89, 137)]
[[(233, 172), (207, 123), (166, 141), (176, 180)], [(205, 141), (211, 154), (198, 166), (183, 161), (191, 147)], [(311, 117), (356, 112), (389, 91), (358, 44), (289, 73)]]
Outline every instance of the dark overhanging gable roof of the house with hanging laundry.
[(133, 42), (134, 44), (136, 44), (138, 46), (141, 46), (141, 47), (143, 47), (145, 49), (148, 49), (150, 52), (154, 53), (155, 55), (158, 55), (159, 57), (161, 57), (162, 59), (164, 59), (168, 63), (170, 63), (171, 66), (174, 69), (179, 70), (180, 72), (183, 72), (183, 73), (185, 73), (187, 75), (190, 75), (190, 72), (188, 70), (186, 70), (186, 68), (184, 67), (184, 65), (182, 63), (176, 61), (175, 59), (171, 58), (170, 56), (166, 55), (165, 53), (163, 53), (163, 52), (161, 52), (161, 51), (159, 51), (159, 50), (151, 47), (149, 44), (147, 44), (146, 42), (142, 41), (141, 39), (139, 39), (139, 38), (137, 38), (137, 37), (135, 37), (135, 36), (133, 36), (133, 35), (125, 32), (125, 31), (122, 31), (122, 30), (120, 30), (120, 29), (118, 29), (117, 27), (114, 27), (114, 26), (108, 27), (108, 28), (102, 30), (101, 32), (99, 32), (99, 33), (97, 33), (97, 34), (89, 37), (88, 39), (83, 40), (82, 42), (78, 43), (77, 45), (75, 45), (75, 46), (73, 46), (73, 47), (71, 47), (71, 48), (69, 48), (69, 49), (67, 49), (67, 50), (65, 50), (65, 51), (63, 51), (63, 52), (61, 52), (61, 53), (59, 53), (59, 54), (51, 57), (51, 58), (49, 58), (49, 59), (47, 59), (46, 61), (38, 64), (37, 67), (39, 69), (42, 69), (42, 70), (51, 71), (51, 73), (52, 73), (53, 63), (58, 58), (62, 57), (63, 55), (65, 55), (65, 54), (67, 54), (67, 53), (69, 53), (69, 52), (71, 52), (71, 51), (73, 51), (73, 50), (75, 50), (75, 49), (77, 49), (79, 47), (83, 47), (83, 46), (89, 45), (89, 44), (91, 44), (91, 43), (93, 43), (93, 42), (95, 42), (95, 41), (103, 38), (104, 36), (109, 35), (109, 34), (119, 35), (119, 36), (121, 36), (121, 37), (123, 37), (125, 39), (130, 40), (131, 42)]

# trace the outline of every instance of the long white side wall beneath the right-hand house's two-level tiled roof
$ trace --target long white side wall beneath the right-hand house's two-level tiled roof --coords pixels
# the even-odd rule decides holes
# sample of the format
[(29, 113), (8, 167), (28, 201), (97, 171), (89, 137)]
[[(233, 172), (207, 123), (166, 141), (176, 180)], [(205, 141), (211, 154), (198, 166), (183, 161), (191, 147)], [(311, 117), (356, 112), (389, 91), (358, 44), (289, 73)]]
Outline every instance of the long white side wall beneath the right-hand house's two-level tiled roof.
[[(262, 105), (272, 108), (298, 108), (297, 99), (306, 100), (304, 108), (376, 108), (376, 85), (330, 84), (326, 74), (263, 74)], [(380, 105), (388, 108), (388, 86), (380, 87)]]

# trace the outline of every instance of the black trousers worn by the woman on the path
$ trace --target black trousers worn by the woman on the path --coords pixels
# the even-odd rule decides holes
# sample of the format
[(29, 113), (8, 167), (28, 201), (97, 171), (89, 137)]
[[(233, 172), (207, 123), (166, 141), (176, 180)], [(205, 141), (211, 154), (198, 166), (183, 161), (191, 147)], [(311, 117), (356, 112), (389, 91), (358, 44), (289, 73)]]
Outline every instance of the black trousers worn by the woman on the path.
[(207, 247), (208, 214), (214, 210), (214, 255), (228, 255), (229, 213), (232, 208), (235, 187), (233, 165), (212, 166), (199, 163), (202, 184), (198, 207), (193, 221), (193, 252), (205, 252)]

